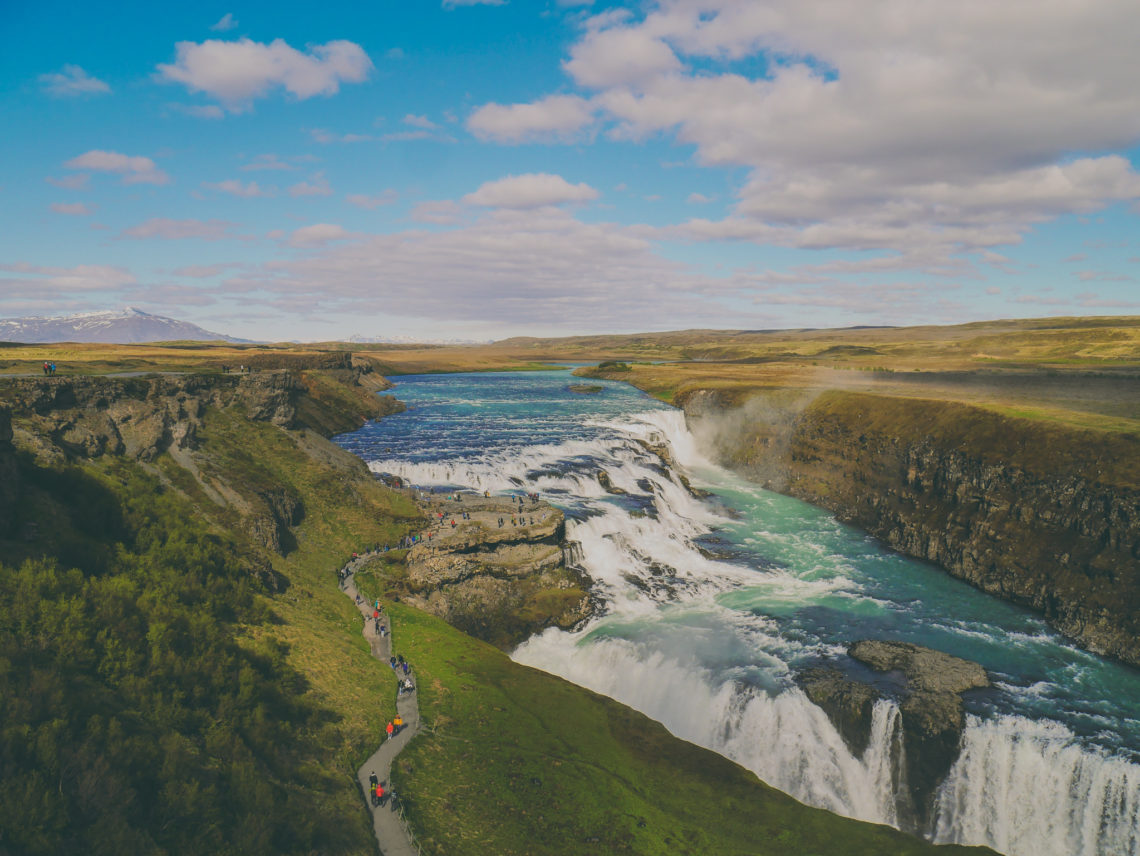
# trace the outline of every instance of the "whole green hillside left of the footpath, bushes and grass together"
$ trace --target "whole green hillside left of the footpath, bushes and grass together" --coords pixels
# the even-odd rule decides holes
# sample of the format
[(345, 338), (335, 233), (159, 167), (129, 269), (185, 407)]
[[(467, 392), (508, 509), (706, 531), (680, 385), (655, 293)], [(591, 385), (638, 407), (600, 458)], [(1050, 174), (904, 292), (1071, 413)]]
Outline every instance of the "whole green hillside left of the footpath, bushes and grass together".
[(104, 384), (128, 450), (180, 397), (195, 441), (139, 459), (43, 383), (3, 390), (15, 448), (0, 409), (0, 853), (373, 853), (352, 773), (394, 684), (333, 571), (414, 506), (278, 424), (287, 384)]

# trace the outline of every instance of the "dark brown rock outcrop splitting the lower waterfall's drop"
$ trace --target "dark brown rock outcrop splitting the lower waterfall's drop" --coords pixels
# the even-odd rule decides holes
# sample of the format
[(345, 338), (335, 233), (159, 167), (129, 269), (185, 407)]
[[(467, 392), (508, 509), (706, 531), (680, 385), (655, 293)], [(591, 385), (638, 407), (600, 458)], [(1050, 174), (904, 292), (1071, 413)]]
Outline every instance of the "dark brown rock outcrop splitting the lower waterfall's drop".
[(925, 833), (933, 820), (935, 793), (961, 747), (962, 693), (988, 687), (990, 678), (978, 663), (905, 642), (865, 639), (847, 653), (887, 679), (870, 683), (824, 666), (806, 669), (797, 682), (857, 756), (870, 742), (876, 702), (891, 699), (898, 704), (899, 731), (891, 761), (899, 824)]

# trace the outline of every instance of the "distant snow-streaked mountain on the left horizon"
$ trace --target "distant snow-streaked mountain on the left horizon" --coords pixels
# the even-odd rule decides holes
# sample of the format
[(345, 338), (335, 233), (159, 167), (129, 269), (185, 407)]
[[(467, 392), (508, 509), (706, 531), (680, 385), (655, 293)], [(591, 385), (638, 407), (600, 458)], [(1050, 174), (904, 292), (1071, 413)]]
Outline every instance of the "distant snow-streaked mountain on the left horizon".
[(244, 342), (211, 333), (196, 324), (150, 315), (133, 307), (121, 311), (80, 312), (57, 318), (0, 319), (0, 342), (171, 342), (174, 340)]

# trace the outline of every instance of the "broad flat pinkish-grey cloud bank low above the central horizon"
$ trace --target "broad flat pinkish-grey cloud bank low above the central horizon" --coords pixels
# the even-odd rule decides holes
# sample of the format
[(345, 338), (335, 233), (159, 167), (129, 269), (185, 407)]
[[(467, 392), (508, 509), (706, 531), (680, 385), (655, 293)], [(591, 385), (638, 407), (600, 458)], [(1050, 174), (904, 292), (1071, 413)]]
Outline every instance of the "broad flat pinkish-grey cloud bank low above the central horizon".
[(553, 207), (487, 212), (442, 231), (353, 237), (235, 277), (227, 292), (256, 293), (268, 305), (320, 294), (329, 312), (564, 329), (600, 318), (638, 328), (678, 317), (711, 323), (723, 317), (717, 301), (738, 290), (662, 259), (633, 229), (584, 223)]

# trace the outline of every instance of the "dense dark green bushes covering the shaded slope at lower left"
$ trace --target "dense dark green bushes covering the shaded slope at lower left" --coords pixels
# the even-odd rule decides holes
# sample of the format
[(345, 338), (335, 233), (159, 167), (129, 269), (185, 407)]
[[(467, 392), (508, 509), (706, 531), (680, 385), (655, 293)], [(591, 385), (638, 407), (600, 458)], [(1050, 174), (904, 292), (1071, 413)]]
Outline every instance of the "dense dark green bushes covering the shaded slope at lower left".
[(122, 462), (21, 467), (55, 537), (0, 565), (0, 849), (359, 847), (334, 711), (280, 642), (237, 642), (271, 614), (233, 539)]

